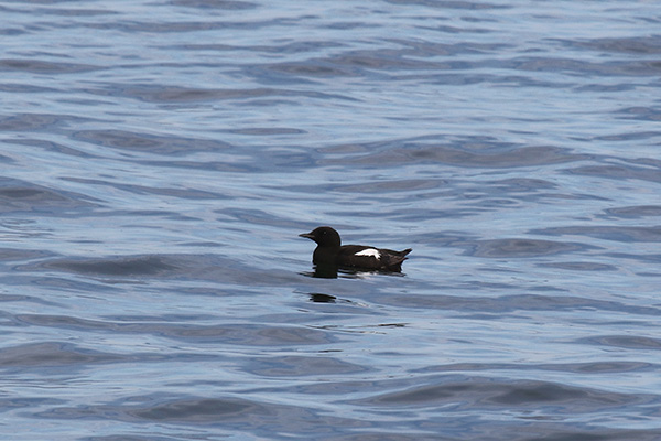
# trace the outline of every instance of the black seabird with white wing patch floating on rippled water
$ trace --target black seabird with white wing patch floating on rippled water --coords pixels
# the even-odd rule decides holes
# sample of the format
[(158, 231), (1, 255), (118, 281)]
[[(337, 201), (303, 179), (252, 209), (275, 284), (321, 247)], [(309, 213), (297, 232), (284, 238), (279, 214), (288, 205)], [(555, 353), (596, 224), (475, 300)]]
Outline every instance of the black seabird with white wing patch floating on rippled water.
[(317, 244), (312, 262), (315, 265), (335, 265), (337, 267), (362, 268), (399, 272), (411, 248), (403, 251), (375, 248), (365, 245), (342, 245), (339, 234), (330, 227), (318, 227), (299, 235)]

